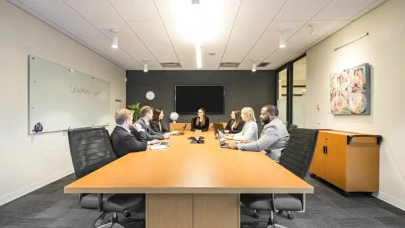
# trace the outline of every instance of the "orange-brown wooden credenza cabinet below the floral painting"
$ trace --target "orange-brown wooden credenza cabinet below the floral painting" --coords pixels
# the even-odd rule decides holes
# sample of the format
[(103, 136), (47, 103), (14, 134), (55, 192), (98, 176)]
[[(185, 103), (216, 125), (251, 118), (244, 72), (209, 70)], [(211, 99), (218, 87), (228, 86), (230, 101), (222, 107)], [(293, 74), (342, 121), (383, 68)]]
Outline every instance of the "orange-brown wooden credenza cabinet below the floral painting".
[(378, 191), (379, 135), (320, 130), (309, 172), (349, 192)]

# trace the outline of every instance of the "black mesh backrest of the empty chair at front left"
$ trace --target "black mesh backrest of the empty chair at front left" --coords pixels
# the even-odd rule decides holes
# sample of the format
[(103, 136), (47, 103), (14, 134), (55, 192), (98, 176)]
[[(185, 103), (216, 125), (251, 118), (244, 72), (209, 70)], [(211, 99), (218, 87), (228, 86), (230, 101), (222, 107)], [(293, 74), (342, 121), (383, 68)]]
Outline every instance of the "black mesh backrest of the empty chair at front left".
[(69, 130), (68, 138), (76, 179), (117, 159), (105, 127)]

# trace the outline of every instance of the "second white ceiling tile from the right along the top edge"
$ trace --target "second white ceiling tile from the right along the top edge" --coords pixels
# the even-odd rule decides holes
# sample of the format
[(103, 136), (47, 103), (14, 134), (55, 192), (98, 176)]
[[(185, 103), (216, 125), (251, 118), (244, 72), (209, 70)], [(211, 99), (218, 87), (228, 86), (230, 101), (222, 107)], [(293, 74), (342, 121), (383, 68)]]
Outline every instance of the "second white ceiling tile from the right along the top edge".
[(274, 20), (311, 20), (332, 0), (288, 0)]

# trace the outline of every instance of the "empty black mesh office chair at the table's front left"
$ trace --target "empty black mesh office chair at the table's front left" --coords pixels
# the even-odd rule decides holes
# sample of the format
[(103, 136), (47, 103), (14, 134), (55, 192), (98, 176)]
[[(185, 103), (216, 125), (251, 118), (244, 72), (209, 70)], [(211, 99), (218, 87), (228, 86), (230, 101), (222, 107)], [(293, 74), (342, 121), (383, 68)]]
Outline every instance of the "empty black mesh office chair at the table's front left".
[[(89, 175), (117, 159), (104, 127), (70, 130), (68, 138), (76, 179)], [(144, 219), (118, 222), (117, 216), (117, 213), (123, 213), (125, 217), (129, 217), (130, 212), (145, 211), (144, 194), (79, 194), (79, 208), (103, 212), (94, 222), (94, 227), (120, 228), (134, 222), (140, 222), (142, 227), (145, 226)], [(112, 220), (102, 225), (107, 213), (113, 213)]]

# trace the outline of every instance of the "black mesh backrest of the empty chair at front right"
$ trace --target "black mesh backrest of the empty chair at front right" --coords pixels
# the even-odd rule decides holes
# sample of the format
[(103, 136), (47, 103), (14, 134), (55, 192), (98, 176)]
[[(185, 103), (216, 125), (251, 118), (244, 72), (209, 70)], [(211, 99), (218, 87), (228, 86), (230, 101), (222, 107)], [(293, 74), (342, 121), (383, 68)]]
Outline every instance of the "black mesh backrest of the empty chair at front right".
[(290, 134), (290, 139), (288, 139), (279, 164), (301, 179), (305, 179), (312, 158), (314, 158), (318, 134), (317, 129), (294, 129)]

